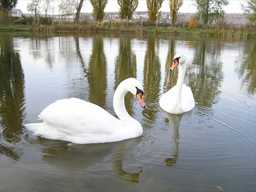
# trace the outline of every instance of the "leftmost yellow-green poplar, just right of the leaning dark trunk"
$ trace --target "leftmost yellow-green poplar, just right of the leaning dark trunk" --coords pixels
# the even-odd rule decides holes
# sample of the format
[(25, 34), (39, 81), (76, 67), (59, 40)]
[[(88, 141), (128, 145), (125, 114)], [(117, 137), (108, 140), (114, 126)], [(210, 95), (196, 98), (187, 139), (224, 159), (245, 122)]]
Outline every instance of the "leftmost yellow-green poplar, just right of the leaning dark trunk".
[(95, 17), (98, 22), (101, 22), (105, 15), (104, 9), (106, 4), (108, 4), (108, 0), (90, 0), (90, 2), (93, 6), (92, 16)]

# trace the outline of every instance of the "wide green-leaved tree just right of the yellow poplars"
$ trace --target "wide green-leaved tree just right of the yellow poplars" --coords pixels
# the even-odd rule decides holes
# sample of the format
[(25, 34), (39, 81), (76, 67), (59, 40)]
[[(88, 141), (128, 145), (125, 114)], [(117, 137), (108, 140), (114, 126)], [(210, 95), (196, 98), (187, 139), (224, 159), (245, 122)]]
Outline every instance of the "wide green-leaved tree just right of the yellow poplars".
[(204, 24), (211, 24), (224, 14), (223, 6), (227, 6), (227, 0), (193, 0), (197, 7), (197, 18), (202, 18)]

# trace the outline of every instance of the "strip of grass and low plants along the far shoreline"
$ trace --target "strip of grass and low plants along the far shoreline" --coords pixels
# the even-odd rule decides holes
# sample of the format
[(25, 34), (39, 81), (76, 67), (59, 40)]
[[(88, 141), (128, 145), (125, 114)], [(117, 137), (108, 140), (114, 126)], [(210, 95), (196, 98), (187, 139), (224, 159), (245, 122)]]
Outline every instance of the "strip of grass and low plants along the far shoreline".
[(170, 27), (168, 24), (150, 24), (145, 22), (142, 26), (140, 22), (127, 22), (118, 20), (117, 22), (84, 22), (74, 25), (72, 22), (52, 22), (51, 25), (22, 25), (22, 24), (1, 24), (0, 31), (27, 31), (27, 32), (108, 32), (108, 33), (135, 33), (135, 34), (172, 34), (191, 36), (219, 36), (234, 38), (256, 37), (255, 27), (228, 27), (225, 25), (202, 26), (188, 28), (189, 24), (180, 24)]

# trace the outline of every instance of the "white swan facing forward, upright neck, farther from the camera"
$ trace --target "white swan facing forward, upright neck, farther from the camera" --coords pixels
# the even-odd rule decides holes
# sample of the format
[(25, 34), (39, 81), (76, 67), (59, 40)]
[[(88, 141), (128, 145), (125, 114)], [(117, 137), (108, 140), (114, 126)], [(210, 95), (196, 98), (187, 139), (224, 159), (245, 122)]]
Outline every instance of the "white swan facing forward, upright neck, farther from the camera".
[(176, 54), (170, 71), (173, 71), (178, 65), (179, 74), (176, 86), (163, 94), (159, 100), (161, 108), (171, 114), (182, 114), (195, 107), (193, 93), (189, 87), (183, 84), (186, 72), (186, 57), (183, 54)]

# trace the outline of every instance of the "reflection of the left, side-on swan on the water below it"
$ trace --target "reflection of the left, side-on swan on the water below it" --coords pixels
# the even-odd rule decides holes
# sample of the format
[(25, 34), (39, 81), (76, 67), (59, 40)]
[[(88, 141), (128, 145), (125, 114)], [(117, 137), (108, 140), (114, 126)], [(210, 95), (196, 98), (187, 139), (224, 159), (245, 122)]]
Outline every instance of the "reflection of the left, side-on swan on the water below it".
[[(133, 148), (140, 143), (141, 138), (127, 139), (119, 142), (98, 143), (98, 144), (73, 144), (63, 141), (54, 141), (44, 138), (39, 139), (44, 144), (42, 148), (42, 159), (50, 165), (68, 172), (101, 171), (109, 170), (109, 162), (112, 161), (112, 169), (118, 179), (126, 184), (139, 183), (141, 167), (137, 172), (126, 172), (124, 170), (124, 159), (129, 160), (128, 155)], [(111, 157), (111, 158), (109, 158)], [(126, 157), (126, 158), (125, 158)], [(100, 166), (97, 164), (100, 163)], [(96, 168), (95, 167), (99, 167)], [(131, 167), (131, 166), (130, 166)], [(87, 173), (84, 173), (87, 175)], [(101, 174), (100, 174), (101, 175)]]

